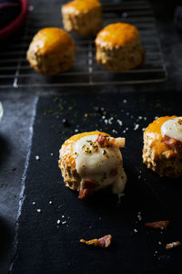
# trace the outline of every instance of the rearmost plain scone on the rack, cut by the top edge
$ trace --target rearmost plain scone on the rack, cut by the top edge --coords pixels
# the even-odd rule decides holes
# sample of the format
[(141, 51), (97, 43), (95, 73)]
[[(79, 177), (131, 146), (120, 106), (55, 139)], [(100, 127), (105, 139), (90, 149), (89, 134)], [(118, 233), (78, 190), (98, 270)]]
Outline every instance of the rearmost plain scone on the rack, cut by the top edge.
[(66, 31), (81, 36), (95, 35), (103, 26), (102, 6), (97, 0), (75, 0), (62, 6)]

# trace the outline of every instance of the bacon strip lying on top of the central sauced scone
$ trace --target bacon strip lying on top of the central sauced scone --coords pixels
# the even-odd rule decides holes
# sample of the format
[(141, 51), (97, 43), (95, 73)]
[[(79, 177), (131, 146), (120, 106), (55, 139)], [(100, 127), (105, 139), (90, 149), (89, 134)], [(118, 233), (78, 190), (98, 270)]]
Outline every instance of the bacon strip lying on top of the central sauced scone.
[(101, 133), (99, 133), (96, 138), (96, 142), (98, 142), (101, 147), (109, 147), (109, 146), (125, 147), (125, 141), (126, 141), (125, 138), (108, 137), (108, 136), (102, 135)]

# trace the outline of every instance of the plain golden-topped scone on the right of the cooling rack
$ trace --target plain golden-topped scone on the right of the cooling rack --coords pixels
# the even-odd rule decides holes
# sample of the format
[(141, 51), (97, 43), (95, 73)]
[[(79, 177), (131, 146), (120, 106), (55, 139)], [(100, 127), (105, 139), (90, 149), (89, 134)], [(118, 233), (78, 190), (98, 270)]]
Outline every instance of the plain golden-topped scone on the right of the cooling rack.
[(144, 62), (145, 54), (135, 26), (111, 24), (96, 37), (96, 61), (111, 71), (136, 68)]

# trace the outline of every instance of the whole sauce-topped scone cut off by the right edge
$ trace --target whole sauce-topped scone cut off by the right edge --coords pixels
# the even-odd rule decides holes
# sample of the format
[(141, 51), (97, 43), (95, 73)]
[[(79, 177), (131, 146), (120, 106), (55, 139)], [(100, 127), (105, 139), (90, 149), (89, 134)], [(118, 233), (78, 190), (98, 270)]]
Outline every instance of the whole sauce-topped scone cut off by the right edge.
[(161, 176), (182, 175), (182, 117), (160, 117), (148, 125), (143, 161)]

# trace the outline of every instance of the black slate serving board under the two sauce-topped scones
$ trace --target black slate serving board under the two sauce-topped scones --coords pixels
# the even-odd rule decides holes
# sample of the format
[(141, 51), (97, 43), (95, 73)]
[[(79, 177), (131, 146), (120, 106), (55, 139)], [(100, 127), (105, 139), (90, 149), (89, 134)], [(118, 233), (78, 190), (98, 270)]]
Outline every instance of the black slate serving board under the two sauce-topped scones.
[[(165, 249), (182, 240), (181, 178), (160, 178), (141, 158), (143, 129), (157, 116), (181, 115), (179, 99), (172, 92), (39, 98), (11, 273), (181, 273), (182, 248)], [(66, 138), (95, 130), (126, 137), (128, 181), (120, 202), (108, 191), (78, 200), (57, 167)], [(171, 220), (167, 230), (144, 227), (163, 219)], [(113, 236), (108, 249), (79, 242), (106, 234)]]

